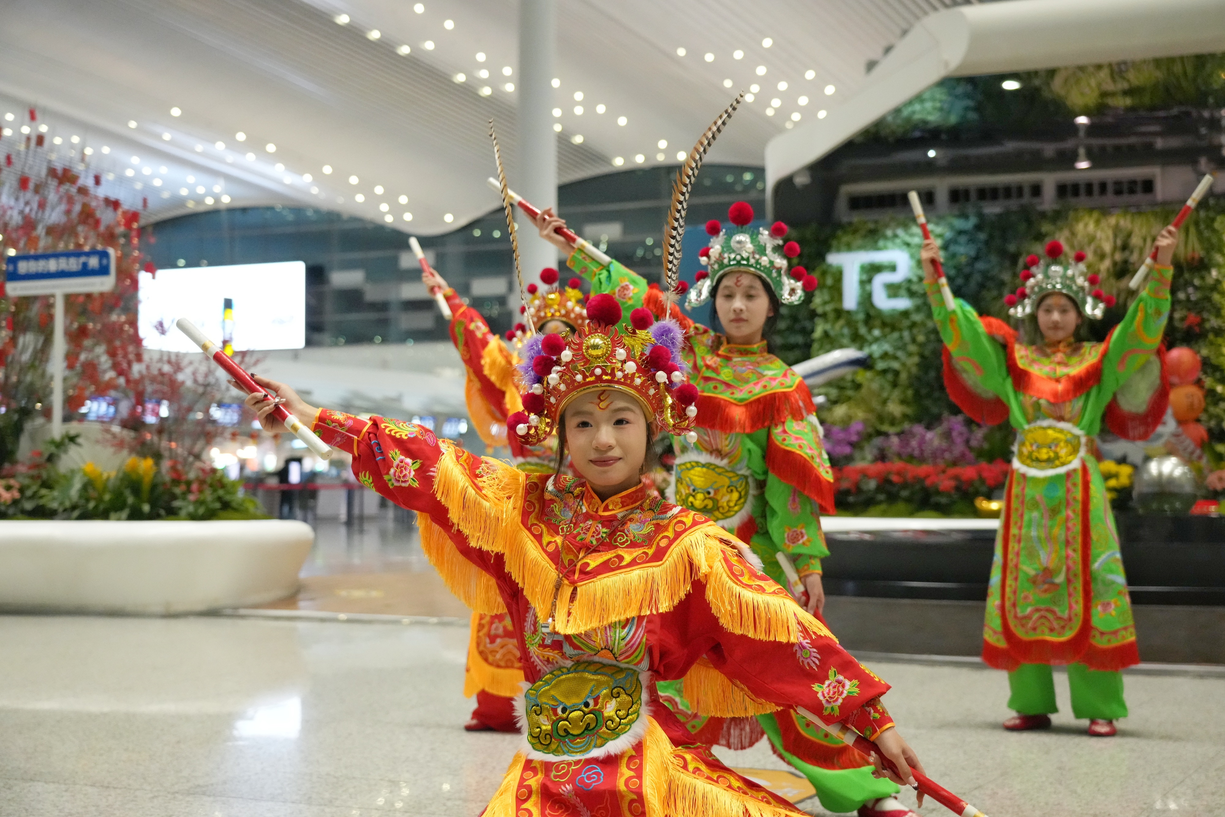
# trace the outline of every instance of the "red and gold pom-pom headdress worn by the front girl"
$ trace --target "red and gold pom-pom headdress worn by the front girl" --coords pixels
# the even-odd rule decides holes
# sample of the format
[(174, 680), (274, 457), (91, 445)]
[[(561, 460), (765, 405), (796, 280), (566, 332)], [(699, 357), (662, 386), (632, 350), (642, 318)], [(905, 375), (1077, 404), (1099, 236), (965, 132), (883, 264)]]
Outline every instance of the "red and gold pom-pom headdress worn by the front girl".
[(615, 298), (592, 295), (586, 326), (570, 338), (535, 336), (523, 344), (524, 410), (506, 421), (523, 445), (548, 439), (575, 397), (600, 388), (632, 394), (658, 431), (697, 439), (697, 387), (686, 381), (684, 331), (655, 321), (648, 309), (633, 310), (628, 323), (621, 315)]

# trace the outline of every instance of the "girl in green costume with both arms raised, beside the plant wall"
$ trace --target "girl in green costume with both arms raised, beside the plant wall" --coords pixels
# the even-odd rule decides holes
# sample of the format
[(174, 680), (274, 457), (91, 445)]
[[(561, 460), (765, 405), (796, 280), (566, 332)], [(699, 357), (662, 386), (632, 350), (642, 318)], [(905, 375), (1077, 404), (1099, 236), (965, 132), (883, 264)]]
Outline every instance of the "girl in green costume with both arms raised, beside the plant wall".
[(1143, 440), (1165, 414), (1160, 344), (1176, 244), (1167, 227), (1144, 290), (1102, 343), (1076, 338), (1085, 317), (1114, 305), (1084, 254), (1067, 263), (1062, 244), (1051, 241), (1046, 260), (1029, 256), (1023, 287), (1005, 300), (1011, 315), (1029, 318), (1034, 344), (965, 301), (947, 309), (932, 265), (940, 250), (924, 244), (949, 396), (979, 423), (1007, 419), (1017, 430), (982, 631), (982, 660), (1008, 670), (1017, 715), (1005, 729), (1051, 725), (1054, 664), (1068, 666), (1072, 712), (1089, 719), (1090, 735), (1114, 735), (1114, 721), (1127, 715), (1120, 670), (1138, 664), (1139, 653), (1094, 436), (1105, 420), (1120, 436)]

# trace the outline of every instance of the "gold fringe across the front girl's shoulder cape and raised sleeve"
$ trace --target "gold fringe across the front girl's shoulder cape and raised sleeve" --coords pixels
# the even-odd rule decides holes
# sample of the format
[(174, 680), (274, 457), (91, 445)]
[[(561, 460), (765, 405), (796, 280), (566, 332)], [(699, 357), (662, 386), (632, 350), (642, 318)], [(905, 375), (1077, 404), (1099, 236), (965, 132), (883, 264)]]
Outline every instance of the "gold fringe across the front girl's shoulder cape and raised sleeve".
[[(522, 524), (526, 479), (523, 472), (486, 459), (474, 484), (454, 450), (445, 446), (434, 490), (456, 529), (474, 548), (502, 555), (506, 570), (537, 610), (554, 609), (556, 589), (554, 632), (582, 633), (630, 616), (666, 612), (688, 594), (695, 581), (702, 581), (707, 585), (707, 601), (730, 632), (795, 643), (802, 626), (810, 633), (833, 637), (772, 581), (751, 576), (739, 557), (725, 559), (736, 551), (730, 534), (713, 522), (684, 534), (662, 562), (599, 576), (578, 585), (562, 582), (559, 587), (556, 566)], [(447, 546), (451, 548), (450, 543)], [(430, 550), (426, 555), (435, 560)], [(453, 565), (456, 559), (447, 557), (439, 565), (448, 587), (452, 583), (448, 576), (463, 574)], [(741, 576), (734, 576), (733, 571), (740, 571)], [(459, 584), (467, 589), (464, 583)], [(463, 594), (456, 594), (467, 603)]]

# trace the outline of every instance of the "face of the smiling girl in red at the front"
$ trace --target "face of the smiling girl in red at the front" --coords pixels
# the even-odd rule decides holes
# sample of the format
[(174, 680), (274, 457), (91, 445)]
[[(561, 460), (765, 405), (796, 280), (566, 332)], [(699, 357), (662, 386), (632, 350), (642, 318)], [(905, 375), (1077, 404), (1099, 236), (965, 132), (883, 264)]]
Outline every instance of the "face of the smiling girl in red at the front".
[(615, 388), (587, 392), (566, 407), (564, 423), (570, 461), (597, 496), (638, 484), (650, 440), (638, 401)]

